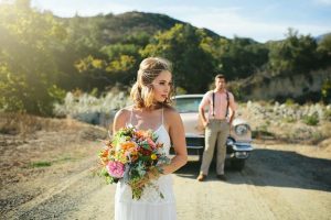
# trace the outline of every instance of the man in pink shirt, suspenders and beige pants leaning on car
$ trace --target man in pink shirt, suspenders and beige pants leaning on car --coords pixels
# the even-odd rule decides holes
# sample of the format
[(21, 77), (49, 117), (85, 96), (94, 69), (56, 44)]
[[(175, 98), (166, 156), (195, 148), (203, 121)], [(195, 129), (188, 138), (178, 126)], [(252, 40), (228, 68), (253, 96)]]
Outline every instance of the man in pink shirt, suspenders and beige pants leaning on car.
[[(206, 107), (209, 107), (207, 118), (204, 114)], [(231, 109), (229, 119), (228, 109)], [(235, 110), (234, 96), (225, 89), (225, 77), (220, 74), (215, 77), (215, 89), (207, 91), (199, 106), (199, 116), (205, 128), (205, 148), (197, 176), (199, 182), (205, 180), (209, 174), (216, 142), (216, 177), (221, 180), (226, 180), (224, 175), (224, 162), (226, 156), (225, 143), (235, 116)]]

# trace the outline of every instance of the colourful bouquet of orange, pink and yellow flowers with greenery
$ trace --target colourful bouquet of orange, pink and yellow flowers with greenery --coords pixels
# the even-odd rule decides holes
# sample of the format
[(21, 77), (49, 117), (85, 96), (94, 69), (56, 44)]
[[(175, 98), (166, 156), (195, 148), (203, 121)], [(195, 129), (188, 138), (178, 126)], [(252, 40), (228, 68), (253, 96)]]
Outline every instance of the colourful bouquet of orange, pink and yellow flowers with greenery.
[[(161, 165), (170, 160), (160, 153), (162, 143), (157, 143), (158, 135), (152, 131), (124, 128), (116, 132), (110, 141), (105, 141), (105, 147), (99, 153), (100, 174), (108, 184), (124, 179), (132, 189), (132, 199), (140, 199), (147, 185), (153, 186), (147, 172), (156, 176), (162, 173)], [(160, 193), (160, 197), (163, 195)]]

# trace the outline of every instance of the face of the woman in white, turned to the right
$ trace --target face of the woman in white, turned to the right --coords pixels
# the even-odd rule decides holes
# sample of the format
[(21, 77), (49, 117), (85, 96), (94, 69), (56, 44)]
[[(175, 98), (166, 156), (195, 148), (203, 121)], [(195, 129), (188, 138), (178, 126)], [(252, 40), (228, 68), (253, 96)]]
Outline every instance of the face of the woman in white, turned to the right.
[(163, 70), (159, 74), (157, 78), (152, 81), (154, 100), (158, 102), (163, 102), (170, 92), (172, 86), (171, 73)]

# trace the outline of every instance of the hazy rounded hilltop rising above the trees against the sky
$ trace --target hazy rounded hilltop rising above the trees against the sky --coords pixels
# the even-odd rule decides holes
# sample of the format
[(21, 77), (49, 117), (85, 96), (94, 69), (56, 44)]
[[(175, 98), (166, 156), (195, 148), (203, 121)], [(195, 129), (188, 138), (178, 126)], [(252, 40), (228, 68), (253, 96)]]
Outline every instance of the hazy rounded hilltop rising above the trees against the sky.
[[(189, 24), (186, 22), (170, 18), (166, 14), (146, 12), (126, 12), (114, 15), (113, 13), (95, 16), (58, 18), (66, 24), (74, 23), (87, 32), (94, 30), (102, 35), (103, 43), (122, 42), (128, 36), (151, 36), (159, 31), (171, 29), (174, 24)], [(197, 29), (197, 28), (196, 28)], [(220, 37), (215, 32), (203, 29), (210, 36)]]

